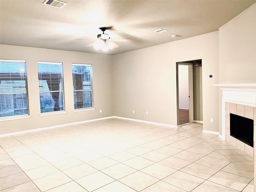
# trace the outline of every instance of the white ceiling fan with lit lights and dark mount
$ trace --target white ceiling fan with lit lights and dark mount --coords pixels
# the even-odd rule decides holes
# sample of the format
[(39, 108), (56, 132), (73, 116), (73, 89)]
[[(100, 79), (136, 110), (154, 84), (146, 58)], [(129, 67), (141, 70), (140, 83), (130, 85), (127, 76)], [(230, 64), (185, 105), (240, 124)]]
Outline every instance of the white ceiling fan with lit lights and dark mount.
[(114, 42), (131, 42), (131, 39), (111, 39), (109, 34), (105, 34), (104, 32), (108, 29), (111, 29), (112, 27), (100, 27), (99, 29), (102, 31), (102, 34), (98, 34), (97, 38), (98, 41), (94, 42), (92, 44), (87, 45), (89, 46), (94, 46), (94, 48), (102, 49), (103, 51), (108, 51), (109, 49), (119, 47), (118, 44)]

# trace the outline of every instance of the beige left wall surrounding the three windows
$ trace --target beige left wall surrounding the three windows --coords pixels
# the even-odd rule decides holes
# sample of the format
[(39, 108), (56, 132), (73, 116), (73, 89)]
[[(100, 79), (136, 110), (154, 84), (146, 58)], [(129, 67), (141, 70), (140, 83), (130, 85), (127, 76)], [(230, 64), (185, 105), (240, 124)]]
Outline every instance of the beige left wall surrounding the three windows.
[[(31, 118), (0, 122), (0, 134), (44, 128), (113, 115), (112, 56), (0, 45), (1, 59), (26, 60)], [(63, 62), (66, 114), (40, 116), (37, 61)], [(72, 63), (92, 64), (95, 110), (74, 112)], [(102, 113), (100, 113), (102, 109)]]

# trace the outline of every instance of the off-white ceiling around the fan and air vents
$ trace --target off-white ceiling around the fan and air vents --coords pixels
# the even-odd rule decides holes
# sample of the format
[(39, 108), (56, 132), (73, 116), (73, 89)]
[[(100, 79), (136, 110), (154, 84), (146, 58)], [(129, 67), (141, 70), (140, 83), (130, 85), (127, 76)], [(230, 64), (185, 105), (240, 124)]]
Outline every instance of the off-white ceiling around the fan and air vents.
[[(217, 31), (256, 0), (63, 0), (62, 9), (44, 0), (0, 0), (0, 43), (104, 54), (96, 42), (99, 27), (113, 26), (119, 54)], [(153, 30), (164, 28), (164, 33)], [(172, 38), (171, 35), (182, 37)]]

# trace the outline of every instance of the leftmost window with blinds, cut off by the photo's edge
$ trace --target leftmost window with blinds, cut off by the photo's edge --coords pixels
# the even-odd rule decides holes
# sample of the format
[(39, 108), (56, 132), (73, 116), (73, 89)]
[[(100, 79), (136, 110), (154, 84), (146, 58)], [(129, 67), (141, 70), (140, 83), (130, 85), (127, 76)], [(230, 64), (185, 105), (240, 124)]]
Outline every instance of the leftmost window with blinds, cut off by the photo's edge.
[(28, 115), (26, 61), (0, 59), (0, 118)]

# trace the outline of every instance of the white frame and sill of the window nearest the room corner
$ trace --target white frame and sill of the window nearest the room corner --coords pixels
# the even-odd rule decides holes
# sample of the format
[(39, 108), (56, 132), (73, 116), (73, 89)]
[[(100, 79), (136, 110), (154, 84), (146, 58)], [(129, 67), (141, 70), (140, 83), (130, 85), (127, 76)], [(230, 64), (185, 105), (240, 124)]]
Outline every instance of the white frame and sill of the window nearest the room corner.
[[(90, 85), (91, 85), (91, 89), (90, 89), (90, 92), (91, 92), (91, 100), (90, 100), (90, 102), (92, 103), (92, 106), (90, 106), (90, 107), (75, 108), (74, 92), (77, 92), (77, 91), (82, 91), (82, 92), (84, 92), (84, 91), (88, 91), (88, 90), (87, 90), (87, 89), (84, 89), (84, 88), (83, 88), (83, 89), (76, 89), (76, 90), (75, 90), (73, 66), (90, 66)], [(74, 112), (95, 110), (95, 107), (94, 107), (94, 94), (93, 94), (94, 92), (93, 92), (92, 64), (72, 63), (72, 84), (73, 84), (73, 100), (74, 100), (73, 107), (74, 107)], [(83, 104), (84, 104), (84, 100), (83, 100)]]

